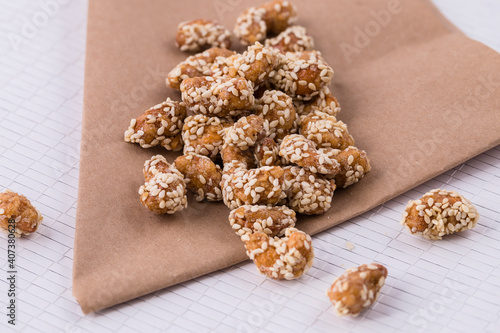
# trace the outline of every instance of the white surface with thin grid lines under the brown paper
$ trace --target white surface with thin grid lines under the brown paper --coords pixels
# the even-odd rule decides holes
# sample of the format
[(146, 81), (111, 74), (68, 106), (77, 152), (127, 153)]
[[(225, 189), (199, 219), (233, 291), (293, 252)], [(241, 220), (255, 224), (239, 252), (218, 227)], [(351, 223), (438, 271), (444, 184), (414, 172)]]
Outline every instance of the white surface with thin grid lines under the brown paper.
[[(500, 331), (500, 147), (314, 237), (314, 266), (297, 281), (264, 279), (246, 262), (83, 316), (71, 271), (87, 4), (64, 1), (43, 21), (47, 2), (0, 0), (0, 189), (22, 192), (45, 216), (39, 232), (17, 242), (17, 330)], [(497, 1), (435, 3), (469, 36), (500, 50)], [(40, 27), (23, 35), (23, 18), (37, 17)], [(17, 49), (9, 33), (23, 37)], [(436, 187), (471, 199), (481, 214), (474, 230), (440, 242), (403, 230), (406, 202)], [(6, 253), (5, 241), (0, 247)], [(379, 301), (358, 318), (337, 318), (326, 289), (346, 268), (371, 261), (389, 270)], [(12, 330), (3, 315), (0, 322), (2, 332)]]

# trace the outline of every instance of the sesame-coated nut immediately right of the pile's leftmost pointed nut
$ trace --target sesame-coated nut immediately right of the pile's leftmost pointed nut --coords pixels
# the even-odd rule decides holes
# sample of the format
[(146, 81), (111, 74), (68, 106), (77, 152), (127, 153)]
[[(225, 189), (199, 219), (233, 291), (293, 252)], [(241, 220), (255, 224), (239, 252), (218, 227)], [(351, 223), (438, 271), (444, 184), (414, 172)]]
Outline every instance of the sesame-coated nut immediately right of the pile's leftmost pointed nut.
[(220, 118), (201, 114), (187, 117), (182, 127), (184, 154), (195, 153), (217, 159), (224, 143), (223, 130)]

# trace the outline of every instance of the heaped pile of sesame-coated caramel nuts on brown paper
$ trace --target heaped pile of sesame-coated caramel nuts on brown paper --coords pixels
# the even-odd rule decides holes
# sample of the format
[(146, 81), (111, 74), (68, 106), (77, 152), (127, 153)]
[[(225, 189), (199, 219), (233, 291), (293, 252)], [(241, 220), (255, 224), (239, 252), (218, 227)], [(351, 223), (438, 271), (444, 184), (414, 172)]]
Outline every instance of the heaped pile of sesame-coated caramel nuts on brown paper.
[(314, 50), (288, 1), (249, 8), (234, 35), (247, 48), (228, 50), (231, 36), (208, 20), (181, 23), (176, 44), (190, 55), (166, 78), (181, 101), (168, 98), (132, 119), (125, 141), (142, 148), (183, 150), (144, 165), (142, 204), (157, 214), (197, 201), (223, 201), (229, 224), (259, 271), (296, 279), (312, 266), (311, 237), (297, 214), (323, 214), (335, 189), (368, 171), (340, 105), (328, 88), (333, 69)]

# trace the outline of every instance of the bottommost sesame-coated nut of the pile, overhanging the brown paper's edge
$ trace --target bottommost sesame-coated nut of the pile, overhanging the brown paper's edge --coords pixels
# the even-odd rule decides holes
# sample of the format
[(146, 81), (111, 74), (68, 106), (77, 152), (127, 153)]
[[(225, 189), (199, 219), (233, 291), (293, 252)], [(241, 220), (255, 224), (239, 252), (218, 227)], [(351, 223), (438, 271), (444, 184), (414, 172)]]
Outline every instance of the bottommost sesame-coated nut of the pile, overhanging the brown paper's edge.
[(295, 228), (285, 229), (285, 237), (269, 237), (263, 232), (243, 235), (247, 255), (259, 271), (272, 279), (293, 280), (311, 268), (314, 259), (311, 236)]

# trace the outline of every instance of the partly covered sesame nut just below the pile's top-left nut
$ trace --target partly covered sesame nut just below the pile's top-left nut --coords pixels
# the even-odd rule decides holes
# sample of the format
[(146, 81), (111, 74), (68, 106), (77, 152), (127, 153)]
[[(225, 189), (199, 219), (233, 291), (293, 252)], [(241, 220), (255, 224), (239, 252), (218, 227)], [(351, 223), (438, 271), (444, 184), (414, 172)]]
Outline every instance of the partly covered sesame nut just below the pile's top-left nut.
[(210, 48), (202, 53), (188, 57), (186, 60), (174, 67), (166, 78), (167, 87), (180, 90), (181, 83), (191, 77), (212, 75), (212, 66), (223, 62), (225, 58), (236, 54), (227, 49), (218, 47)]

